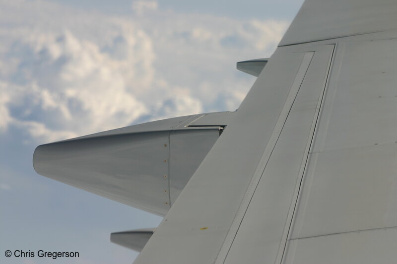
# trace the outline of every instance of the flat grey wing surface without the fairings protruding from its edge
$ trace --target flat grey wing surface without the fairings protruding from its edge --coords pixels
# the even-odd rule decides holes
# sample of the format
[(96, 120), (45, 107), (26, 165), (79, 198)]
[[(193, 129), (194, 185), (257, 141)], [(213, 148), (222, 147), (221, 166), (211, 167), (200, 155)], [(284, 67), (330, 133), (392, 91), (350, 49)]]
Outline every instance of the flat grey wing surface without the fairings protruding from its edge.
[(397, 1), (306, 0), (135, 264), (397, 259)]

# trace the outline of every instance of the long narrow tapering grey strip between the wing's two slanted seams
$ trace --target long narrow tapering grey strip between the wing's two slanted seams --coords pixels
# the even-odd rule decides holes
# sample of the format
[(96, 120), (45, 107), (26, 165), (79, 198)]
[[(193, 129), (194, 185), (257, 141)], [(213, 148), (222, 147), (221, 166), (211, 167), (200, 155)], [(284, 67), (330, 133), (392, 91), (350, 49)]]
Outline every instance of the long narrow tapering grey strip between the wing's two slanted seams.
[[(316, 50), (255, 193), (252, 199), (248, 197), (249, 207), (243, 211), (244, 218), (224, 263), (281, 261), (297, 197), (297, 184), (306, 164), (333, 47), (323, 46)], [(250, 242), (248, 247), (247, 241)]]

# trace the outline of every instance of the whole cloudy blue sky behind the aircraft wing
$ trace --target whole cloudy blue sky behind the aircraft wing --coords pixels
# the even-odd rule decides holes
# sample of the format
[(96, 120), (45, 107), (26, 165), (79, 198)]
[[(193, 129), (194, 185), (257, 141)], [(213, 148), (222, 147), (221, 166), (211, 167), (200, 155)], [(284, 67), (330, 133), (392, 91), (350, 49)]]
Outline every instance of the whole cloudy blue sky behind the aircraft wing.
[[(303, 0), (0, 0), (0, 263), (132, 263), (110, 233), (161, 217), (40, 176), (36, 146), (235, 110)], [(5, 250), (78, 251), (76, 259)]]

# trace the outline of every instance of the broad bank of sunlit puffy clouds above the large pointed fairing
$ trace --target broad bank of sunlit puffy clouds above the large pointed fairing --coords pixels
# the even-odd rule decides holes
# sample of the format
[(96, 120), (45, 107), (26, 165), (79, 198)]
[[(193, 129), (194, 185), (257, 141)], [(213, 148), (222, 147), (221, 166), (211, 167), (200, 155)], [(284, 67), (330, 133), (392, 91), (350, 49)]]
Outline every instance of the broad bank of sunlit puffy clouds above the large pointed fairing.
[(235, 62), (270, 55), (287, 26), (176, 13), (156, 1), (132, 9), (115, 17), (0, 2), (0, 133), (19, 129), (45, 142), (235, 110), (253, 80)]

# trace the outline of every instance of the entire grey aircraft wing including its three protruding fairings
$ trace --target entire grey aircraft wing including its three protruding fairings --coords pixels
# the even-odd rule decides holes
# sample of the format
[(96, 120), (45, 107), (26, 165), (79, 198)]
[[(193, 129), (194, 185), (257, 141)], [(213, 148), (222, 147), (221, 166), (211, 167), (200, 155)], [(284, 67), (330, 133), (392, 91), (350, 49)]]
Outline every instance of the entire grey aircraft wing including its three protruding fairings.
[(135, 264), (397, 259), (397, 1), (306, 0), (236, 112), (39, 146), (42, 175), (165, 215)]

